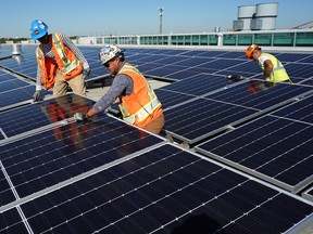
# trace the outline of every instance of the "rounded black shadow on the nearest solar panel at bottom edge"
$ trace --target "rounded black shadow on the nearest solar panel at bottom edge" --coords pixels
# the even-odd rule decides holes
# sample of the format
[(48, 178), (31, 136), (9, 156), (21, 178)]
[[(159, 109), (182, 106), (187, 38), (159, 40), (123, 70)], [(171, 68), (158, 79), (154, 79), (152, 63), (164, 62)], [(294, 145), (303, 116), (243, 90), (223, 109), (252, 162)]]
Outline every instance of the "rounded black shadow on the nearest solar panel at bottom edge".
[(183, 224), (175, 226), (171, 234), (210, 234), (224, 233), (221, 224), (205, 213), (195, 214), (184, 220)]

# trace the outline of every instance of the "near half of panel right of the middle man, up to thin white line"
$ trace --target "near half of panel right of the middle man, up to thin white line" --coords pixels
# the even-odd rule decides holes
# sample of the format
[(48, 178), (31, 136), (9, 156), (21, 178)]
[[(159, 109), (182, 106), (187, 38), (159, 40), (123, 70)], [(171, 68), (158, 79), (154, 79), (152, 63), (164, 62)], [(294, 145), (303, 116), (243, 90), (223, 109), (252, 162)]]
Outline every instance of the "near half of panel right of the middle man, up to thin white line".
[(196, 143), (214, 132), (228, 129), (230, 123), (242, 121), (258, 110), (198, 99), (190, 103), (165, 110), (167, 134), (187, 143)]

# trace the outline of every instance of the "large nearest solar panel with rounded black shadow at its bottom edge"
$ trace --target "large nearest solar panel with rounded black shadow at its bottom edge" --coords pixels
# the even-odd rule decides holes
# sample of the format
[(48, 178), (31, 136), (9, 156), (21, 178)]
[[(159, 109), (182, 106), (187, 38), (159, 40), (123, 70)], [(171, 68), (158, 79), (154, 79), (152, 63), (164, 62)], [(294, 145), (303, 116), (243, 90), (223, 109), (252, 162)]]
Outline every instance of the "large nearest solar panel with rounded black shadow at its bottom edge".
[(0, 231), (283, 233), (313, 219), (300, 199), (171, 145), (15, 206), (3, 210)]

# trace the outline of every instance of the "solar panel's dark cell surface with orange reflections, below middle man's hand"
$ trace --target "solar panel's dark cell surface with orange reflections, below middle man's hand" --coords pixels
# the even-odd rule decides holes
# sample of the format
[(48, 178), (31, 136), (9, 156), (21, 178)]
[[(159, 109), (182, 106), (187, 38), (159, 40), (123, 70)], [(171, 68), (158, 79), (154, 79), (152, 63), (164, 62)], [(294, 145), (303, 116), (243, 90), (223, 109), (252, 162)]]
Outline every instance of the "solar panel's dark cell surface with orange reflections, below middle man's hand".
[[(102, 117), (102, 118), (101, 118)], [(100, 115), (5, 144), (0, 159), (20, 197), (162, 142)]]

